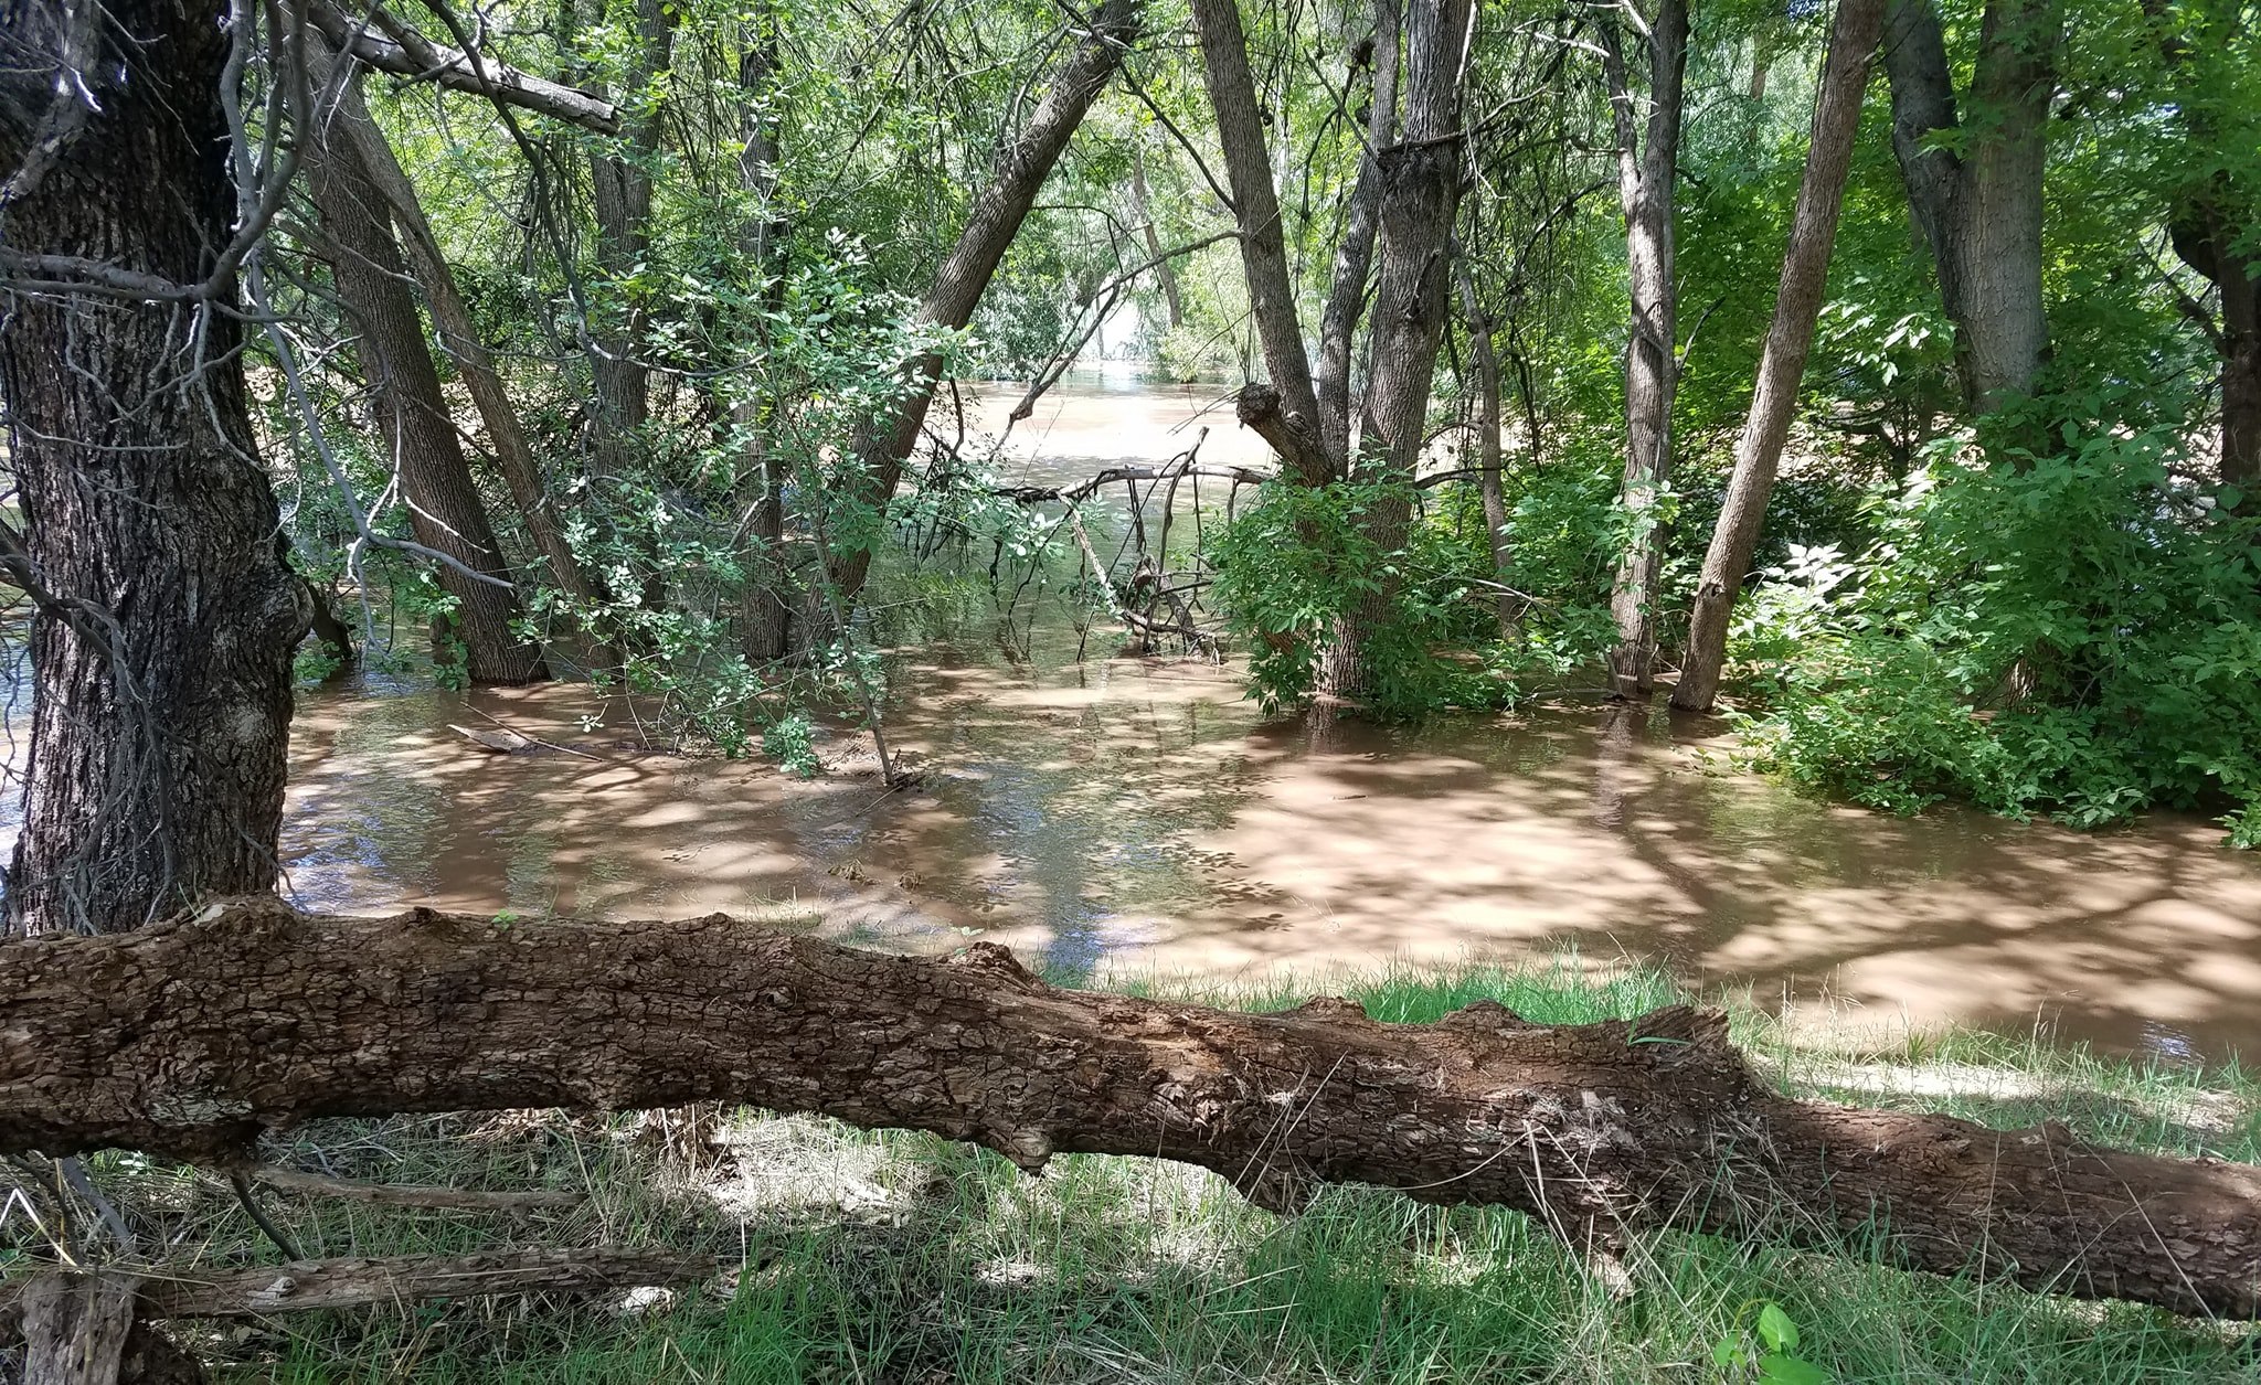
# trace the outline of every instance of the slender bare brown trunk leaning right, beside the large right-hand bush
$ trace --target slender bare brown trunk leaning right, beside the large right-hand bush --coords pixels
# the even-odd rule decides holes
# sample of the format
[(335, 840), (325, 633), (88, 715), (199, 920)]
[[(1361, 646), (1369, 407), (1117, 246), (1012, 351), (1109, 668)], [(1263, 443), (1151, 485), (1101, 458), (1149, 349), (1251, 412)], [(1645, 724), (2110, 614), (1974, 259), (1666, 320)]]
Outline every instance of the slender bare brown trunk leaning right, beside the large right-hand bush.
[(1883, 7), (1886, 0), (1838, 0), (1829, 29), (1829, 56), (1822, 61), (1822, 81), (1813, 97), (1807, 174), (1797, 188), (1797, 210), (1791, 215), (1791, 246), (1782, 255), (1775, 319), (1766, 330), (1750, 416), (1734, 447), (1727, 502), (1721, 506), (1696, 583), (1689, 648), (1680, 662), (1680, 682), (1673, 687), (1673, 707), (1682, 712), (1707, 712), (1718, 694), (1718, 671), (1727, 657), (1727, 617), (1743, 590), (1743, 574), (1750, 572), (1750, 556), (1759, 549), (1766, 497), (1775, 488), (1775, 468), (1782, 463), (1782, 445), (1797, 411), (1797, 384), (1807, 373), (1807, 350), (1813, 346), (1813, 323), (1829, 289), (1829, 251), (1836, 246), (1845, 172), (1852, 167), (1852, 140), (1861, 129), (1861, 97), (1868, 90), (1870, 52), (1883, 32)]

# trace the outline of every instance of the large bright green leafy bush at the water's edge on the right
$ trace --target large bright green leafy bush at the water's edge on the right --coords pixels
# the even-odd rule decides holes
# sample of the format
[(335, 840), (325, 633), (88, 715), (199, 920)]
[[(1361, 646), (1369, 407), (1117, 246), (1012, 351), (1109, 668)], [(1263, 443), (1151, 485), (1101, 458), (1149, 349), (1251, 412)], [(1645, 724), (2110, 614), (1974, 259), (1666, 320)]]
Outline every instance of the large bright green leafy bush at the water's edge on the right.
[(2177, 479), (2166, 432), (2058, 436), (2024, 465), (1947, 450), (1877, 499), (1861, 581), (1809, 563), (1761, 590), (1734, 648), (1768, 700), (1755, 759), (1895, 811), (2232, 809), (2256, 845), (2261, 535)]

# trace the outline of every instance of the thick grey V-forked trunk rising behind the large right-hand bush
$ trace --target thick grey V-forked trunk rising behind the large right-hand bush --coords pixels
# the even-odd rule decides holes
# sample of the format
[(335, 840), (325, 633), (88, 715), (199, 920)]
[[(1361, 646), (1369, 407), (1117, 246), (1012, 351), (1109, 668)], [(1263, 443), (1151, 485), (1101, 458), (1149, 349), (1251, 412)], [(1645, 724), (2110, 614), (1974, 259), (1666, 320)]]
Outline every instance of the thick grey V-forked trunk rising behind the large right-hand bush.
[[(2030, 393), (2048, 355), (2042, 169), (2062, 34), (2060, 0), (1990, 0), (1965, 122), (1931, 0), (1892, 0), (1886, 16), (1892, 154), (1956, 325), (1963, 395), (1978, 413)], [(1960, 151), (1940, 142), (1942, 131)]]

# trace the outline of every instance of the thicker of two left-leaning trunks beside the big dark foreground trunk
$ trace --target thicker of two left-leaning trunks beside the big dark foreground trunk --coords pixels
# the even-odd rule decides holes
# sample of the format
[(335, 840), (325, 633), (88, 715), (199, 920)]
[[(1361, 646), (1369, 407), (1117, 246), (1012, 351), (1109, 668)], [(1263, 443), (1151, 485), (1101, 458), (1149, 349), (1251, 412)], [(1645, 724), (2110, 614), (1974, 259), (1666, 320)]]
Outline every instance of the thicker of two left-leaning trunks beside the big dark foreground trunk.
[[(321, 120), (307, 131), (307, 183), (328, 239), (337, 296), (357, 330), (355, 355), (400, 474), (409, 531), (416, 542), (461, 565), (441, 563), (434, 569), (441, 590), (457, 603), (448, 633), (461, 642), (464, 669), (473, 682), (547, 678), (540, 646), (511, 628), (520, 619), (518, 594), (506, 585), (509, 567), (464, 461), (464, 438), (457, 436), (439, 389), (439, 368), (432, 364), (416, 298), (407, 289), (384, 194), (353, 140), (335, 133), (337, 124)], [(464, 567), (493, 581), (479, 581)]]

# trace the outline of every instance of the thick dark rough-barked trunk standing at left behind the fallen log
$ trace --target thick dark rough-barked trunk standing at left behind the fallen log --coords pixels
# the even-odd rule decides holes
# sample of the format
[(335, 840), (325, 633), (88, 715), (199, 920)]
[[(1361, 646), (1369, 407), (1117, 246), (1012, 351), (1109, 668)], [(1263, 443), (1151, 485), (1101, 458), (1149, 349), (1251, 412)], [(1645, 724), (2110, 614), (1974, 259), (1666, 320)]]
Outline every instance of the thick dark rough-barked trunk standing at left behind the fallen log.
[[(9, 246), (201, 285), (235, 219), (217, 14), (154, 0), (0, 11)], [(43, 176), (27, 172), (38, 147), (57, 154)], [(235, 285), (215, 289), (206, 303), (0, 282), (25, 526), (0, 529), (0, 567), (34, 601), (7, 872), (9, 924), (27, 933), (131, 929), (276, 874), (307, 610), (274, 542), (242, 328), (219, 312)]]

